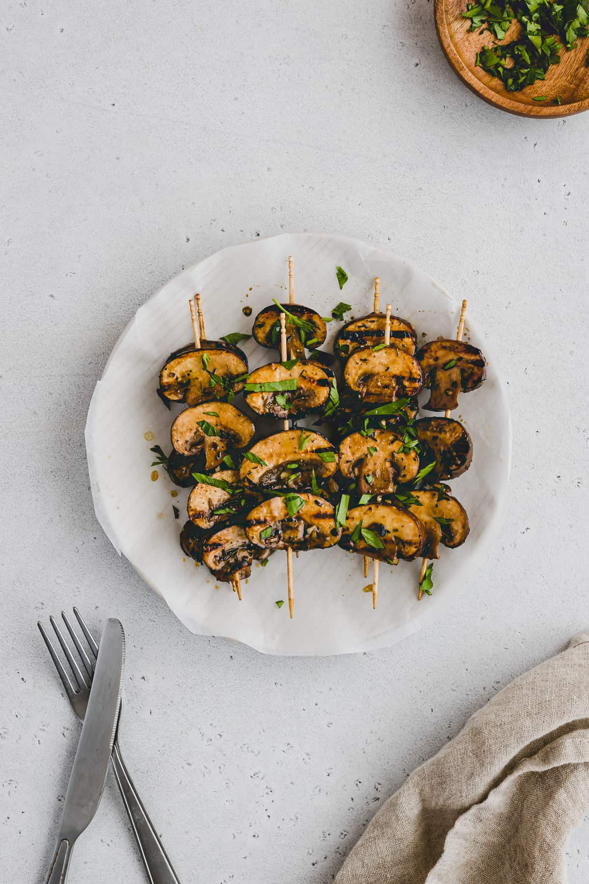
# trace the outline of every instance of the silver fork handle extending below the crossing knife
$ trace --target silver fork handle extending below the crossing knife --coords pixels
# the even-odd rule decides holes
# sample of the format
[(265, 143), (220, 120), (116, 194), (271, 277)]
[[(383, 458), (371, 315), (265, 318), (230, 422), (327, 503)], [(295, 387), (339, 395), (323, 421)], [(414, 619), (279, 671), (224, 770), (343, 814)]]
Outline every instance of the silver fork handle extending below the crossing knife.
[[(121, 796), (123, 796), (125, 810), (131, 820), (133, 834), (137, 839), (141, 859), (143, 860), (143, 865), (145, 865), (150, 884), (180, 884), (180, 879), (170, 863), (170, 857), (163, 849), (163, 844), (157, 836), (154, 824), (149, 819), (137, 789), (135, 789), (135, 784), (125, 766), (118, 740), (115, 740), (111, 760), (117, 779), (117, 786), (120, 789)], [(48, 881), (48, 884), (53, 884), (53, 881)]]

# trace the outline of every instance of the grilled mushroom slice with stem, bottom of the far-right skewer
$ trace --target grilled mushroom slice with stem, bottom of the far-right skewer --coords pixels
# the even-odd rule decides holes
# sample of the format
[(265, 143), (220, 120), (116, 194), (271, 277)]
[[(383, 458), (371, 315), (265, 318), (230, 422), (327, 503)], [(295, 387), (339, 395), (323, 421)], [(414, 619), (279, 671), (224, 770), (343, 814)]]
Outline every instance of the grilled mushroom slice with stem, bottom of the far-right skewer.
[(446, 485), (412, 493), (421, 504), (412, 504), (408, 508), (426, 531), (422, 552), (424, 557), (439, 559), (438, 546), (441, 542), (449, 549), (464, 544), (470, 530), (468, 516), (462, 504), (449, 495)]

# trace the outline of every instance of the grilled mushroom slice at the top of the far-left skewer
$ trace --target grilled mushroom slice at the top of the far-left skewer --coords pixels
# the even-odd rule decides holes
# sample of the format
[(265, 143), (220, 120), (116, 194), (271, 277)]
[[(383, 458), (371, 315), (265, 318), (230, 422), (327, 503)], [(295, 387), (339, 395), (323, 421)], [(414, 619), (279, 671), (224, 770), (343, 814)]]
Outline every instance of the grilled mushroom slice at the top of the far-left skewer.
[(158, 394), (171, 402), (198, 405), (243, 389), (247, 359), (238, 347), (202, 341), (200, 350), (182, 347), (170, 354), (160, 372)]

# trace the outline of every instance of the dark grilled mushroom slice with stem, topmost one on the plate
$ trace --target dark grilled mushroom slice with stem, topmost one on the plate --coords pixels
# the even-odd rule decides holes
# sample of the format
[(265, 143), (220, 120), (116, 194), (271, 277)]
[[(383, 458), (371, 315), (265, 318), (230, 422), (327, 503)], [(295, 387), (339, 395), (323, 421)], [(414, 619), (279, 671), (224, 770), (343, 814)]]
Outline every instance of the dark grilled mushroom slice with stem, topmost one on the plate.
[(302, 304), (288, 304), (281, 308), (270, 304), (260, 311), (253, 320), (252, 334), (261, 347), (280, 349), (280, 314), (283, 311), (286, 314), (286, 346), (291, 359), (304, 358), (306, 345), (321, 347), (327, 338), (327, 326), (319, 313)]

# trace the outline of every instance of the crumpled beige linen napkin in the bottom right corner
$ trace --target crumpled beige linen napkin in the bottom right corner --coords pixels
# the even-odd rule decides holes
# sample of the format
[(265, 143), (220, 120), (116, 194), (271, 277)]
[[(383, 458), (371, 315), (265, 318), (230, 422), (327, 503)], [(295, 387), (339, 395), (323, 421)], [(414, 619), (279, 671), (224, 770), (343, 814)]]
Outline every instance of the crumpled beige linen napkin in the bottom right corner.
[(589, 806), (589, 633), (517, 678), (391, 796), (336, 884), (564, 884)]

